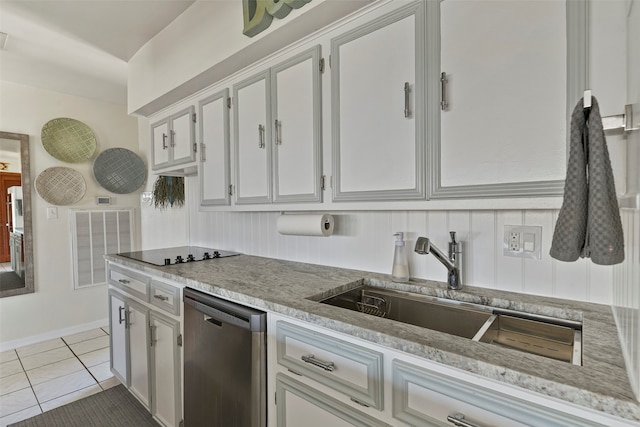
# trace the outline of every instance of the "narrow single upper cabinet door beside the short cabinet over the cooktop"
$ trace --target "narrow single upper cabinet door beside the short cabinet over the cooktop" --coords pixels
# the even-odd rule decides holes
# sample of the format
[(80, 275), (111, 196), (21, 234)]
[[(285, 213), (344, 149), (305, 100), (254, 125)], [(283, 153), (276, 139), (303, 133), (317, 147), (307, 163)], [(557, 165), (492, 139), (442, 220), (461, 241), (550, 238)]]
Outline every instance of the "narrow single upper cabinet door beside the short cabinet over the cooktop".
[(229, 205), (229, 90), (199, 103), (200, 205)]

